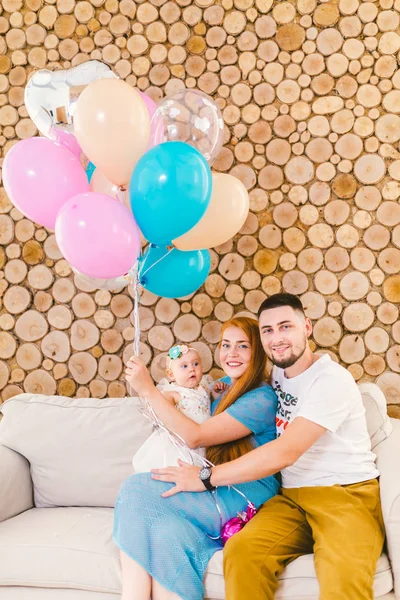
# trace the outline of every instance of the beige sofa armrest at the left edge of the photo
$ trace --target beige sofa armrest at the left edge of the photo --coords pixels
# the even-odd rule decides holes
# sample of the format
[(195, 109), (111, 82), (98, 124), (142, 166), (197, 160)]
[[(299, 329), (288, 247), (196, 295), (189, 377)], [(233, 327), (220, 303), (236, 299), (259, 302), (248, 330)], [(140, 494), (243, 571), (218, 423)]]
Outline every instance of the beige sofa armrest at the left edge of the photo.
[(0, 444), (0, 523), (33, 508), (29, 463)]

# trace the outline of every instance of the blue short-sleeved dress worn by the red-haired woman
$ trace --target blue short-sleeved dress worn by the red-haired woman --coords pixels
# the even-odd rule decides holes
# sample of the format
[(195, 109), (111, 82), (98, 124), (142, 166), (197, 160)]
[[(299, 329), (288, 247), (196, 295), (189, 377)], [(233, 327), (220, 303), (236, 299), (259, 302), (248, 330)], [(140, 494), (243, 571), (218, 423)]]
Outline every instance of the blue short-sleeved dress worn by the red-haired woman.
[[(229, 378), (222, 381), (229, 383)], [(218, 404), (214, 402), (212, 410)], [(276, 437), (277, 397), (265, 384), (227, 409), (253, 432), (255, 447)], [(122, 484), (115, 505), (113, 539), (163, 587), (183, 600), (202, 600), (203, 577), (212, 555), (221, 550), (220, 515), (210, 492), (183, 492), (162, 498), (172, 484), (150, 473), (132, 475)], [(258, 508), (279, 488), (274, 476), (236, 486)], [(246, 500), (232, 488), (217, 489), (223, 522), (246, 509)]]

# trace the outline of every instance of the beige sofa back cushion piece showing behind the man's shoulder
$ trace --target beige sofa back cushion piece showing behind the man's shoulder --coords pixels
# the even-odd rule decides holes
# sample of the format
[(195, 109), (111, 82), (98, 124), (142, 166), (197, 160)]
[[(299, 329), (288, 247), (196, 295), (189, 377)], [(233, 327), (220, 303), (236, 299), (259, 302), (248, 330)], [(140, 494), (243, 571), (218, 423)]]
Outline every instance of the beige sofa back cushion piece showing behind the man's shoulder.
[(386, 398), (382, 390), (369, 381), (358, 384), (365, 406), (367, 427), (372, 449), (383, 442), (392, 432), (387, 414)]

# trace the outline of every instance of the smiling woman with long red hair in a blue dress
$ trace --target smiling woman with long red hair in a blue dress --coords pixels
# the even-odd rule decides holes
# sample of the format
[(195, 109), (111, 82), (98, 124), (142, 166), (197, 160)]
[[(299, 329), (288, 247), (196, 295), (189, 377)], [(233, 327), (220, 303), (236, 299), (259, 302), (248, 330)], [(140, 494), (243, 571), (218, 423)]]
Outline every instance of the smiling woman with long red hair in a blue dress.
[[(205, 447), (213, 464), (243, 456), (275, 439), (277, 397), (266, 383), (266, 356), (255, 319), (237, 317), (222, 327), (222, 379), (228, 389), (212, 404), (212, 417), (198, 424), (159, 392), (145, 365), (128, 363), (127, 380), (158, 418), (190, 448)], [(221, 524), (258, 508), (278, 492), (274, 476), (213, 489), (209, 469), (200, 471), (208, 493), (172, 495), (172, 484), (151, 473), (127, 479), (115, 506), (113, 539), (121, 551), (122, 600), (202, 600), (208, 561), (222, 548)], [(216, 502), (217, 499), (217, 502)]]

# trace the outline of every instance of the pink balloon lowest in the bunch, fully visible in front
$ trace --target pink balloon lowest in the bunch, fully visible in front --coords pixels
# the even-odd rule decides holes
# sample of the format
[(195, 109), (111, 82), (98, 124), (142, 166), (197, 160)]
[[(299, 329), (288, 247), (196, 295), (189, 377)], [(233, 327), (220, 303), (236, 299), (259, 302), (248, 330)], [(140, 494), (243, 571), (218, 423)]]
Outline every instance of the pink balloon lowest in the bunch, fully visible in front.
[(74, 196), (56, 221), (64, 258), (80, 273), (111, 279), (128, 273), (140, 252), (139, 229), (126, 206), (105, 194)]

